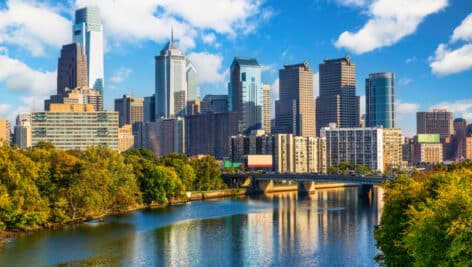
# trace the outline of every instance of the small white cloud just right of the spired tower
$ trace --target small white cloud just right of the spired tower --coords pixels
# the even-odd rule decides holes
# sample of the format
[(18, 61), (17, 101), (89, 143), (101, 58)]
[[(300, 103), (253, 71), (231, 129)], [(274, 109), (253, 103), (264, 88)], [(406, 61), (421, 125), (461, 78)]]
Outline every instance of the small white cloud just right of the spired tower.
[(198, 72), (199, 83), (220, 83), (224, 81), (223, 56), (201, 52), (191, 53), (188, 58)]

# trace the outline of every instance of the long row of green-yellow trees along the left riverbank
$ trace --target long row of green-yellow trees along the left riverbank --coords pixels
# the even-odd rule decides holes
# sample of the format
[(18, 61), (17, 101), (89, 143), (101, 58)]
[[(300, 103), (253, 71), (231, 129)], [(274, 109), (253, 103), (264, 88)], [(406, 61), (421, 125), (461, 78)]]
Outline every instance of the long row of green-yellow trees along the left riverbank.
[(119, 154), (104, 146), (62, 151), (0, 147), (0, 230), (31, 230), (80, 221), (142, 204), (166, 204), (185, 191), (225, 187), (216, 160)]

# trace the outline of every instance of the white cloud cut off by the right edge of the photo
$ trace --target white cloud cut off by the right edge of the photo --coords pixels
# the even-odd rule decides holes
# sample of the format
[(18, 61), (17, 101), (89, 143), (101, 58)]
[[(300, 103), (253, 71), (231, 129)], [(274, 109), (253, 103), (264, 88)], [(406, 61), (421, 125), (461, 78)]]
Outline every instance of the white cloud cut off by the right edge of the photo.
[[(450, 48), (464, 41), (459, 48)], [(429, 58), (431, 71), (437, 76), (446, 76), (472, 69), (472, 13), (454, 29), (449, 44), (439, 44), (434, 56)]]

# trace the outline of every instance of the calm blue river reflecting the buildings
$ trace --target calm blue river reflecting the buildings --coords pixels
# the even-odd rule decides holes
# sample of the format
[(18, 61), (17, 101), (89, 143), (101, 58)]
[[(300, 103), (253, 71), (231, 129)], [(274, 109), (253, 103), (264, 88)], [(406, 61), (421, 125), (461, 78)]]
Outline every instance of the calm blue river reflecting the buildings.
[(19, 237), (0, 266), (375, 266), (382, 189), (192, 202)]

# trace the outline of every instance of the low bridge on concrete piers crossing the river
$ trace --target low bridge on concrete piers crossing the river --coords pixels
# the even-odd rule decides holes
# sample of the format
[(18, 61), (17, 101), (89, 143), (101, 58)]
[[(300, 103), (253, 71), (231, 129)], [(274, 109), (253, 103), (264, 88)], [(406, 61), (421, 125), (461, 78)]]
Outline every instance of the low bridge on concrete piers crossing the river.
[(373, 186), (382, 184), (389, 178), (381, 175), (331, 175), (319, 173), (224, 173), (223, 180), (230, 187), (246, 187), (257, 192), (274, 192), (277, 181), (292, 181), (298, 184), (298, 192), (314, 193), (317, 183), (344, 183), (359, 186), (359, 196), (365, 197), (373, 192)]

